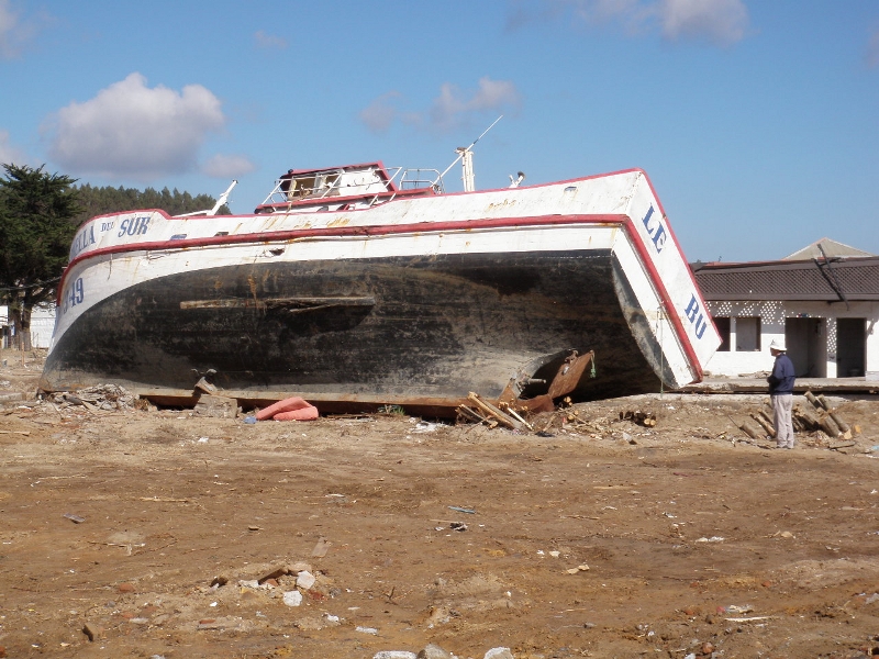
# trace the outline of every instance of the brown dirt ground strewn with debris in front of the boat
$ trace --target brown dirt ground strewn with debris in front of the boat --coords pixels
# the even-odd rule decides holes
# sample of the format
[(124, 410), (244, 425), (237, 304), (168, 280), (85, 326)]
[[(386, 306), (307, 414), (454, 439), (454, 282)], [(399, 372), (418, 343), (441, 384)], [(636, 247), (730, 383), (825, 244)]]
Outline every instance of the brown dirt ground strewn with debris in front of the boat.
[(4, 656), (879, 655), (875, 398), (831, 398), (852, 443), (776, 450), (734, 424), (756, 395), (579, 404), (547, 437), (247, 424), (36, 403), (40, 360), (2, 356)]

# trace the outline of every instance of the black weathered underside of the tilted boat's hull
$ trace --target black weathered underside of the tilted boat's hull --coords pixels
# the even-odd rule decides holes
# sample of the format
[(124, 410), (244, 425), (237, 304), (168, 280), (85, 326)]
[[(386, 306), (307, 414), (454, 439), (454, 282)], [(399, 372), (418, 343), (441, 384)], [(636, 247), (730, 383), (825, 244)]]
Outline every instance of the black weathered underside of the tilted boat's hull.
[(572, 398), (610, 398), (659, 390), (646, 322), (610, 250), (236, 265), (94, 304), (53, 347), (41, 388), (191, 391), (213, 370), (220, 392), (252, 400), (454, 405), (576, 349), (594, 350), (596, 370)]

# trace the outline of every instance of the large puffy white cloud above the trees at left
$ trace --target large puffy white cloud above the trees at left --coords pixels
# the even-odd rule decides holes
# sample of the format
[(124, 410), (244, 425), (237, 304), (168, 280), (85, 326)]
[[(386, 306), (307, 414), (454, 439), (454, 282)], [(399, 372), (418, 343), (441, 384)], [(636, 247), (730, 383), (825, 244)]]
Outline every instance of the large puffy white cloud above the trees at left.
[(135, 72), (59, 110), (49, 150), (76, 175), (148, 182), (196, 169), (207, 135), (224, 123), (220, 100), (201, 85), (151, 89)]

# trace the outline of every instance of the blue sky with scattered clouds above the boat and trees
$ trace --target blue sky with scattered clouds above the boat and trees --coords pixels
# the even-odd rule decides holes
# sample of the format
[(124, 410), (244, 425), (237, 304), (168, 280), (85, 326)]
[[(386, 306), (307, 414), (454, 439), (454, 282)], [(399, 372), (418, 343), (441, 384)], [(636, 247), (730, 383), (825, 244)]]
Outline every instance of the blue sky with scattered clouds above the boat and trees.
[[(689, 260), (879, 254), (879, 2), (0, 0), (0, 163), (219, 196), (290, 168), (479, 189), (641, 167)], [(459, 190), (456, 167), (446, 189)]]

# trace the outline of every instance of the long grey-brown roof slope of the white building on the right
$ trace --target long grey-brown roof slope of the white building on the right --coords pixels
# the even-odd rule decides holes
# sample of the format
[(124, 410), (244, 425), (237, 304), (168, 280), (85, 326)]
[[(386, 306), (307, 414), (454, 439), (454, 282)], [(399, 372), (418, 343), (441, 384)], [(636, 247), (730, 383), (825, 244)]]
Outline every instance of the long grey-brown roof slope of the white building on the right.
[[(830, 256), (830, 255), (828, 255)], [(879, 257), (691, 266), (708, 301), (879, 300)]]

